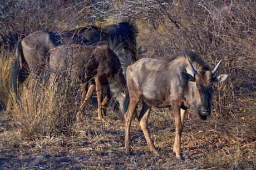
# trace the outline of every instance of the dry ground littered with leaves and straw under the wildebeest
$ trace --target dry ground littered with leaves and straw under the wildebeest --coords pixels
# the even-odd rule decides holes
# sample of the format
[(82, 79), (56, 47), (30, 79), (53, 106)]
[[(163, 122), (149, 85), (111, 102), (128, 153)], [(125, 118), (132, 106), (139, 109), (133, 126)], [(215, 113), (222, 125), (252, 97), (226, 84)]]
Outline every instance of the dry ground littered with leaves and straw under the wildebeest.
[(181, 147), (185, 160), (173, 153), (174, 119), (169, 109), (152, 109), (149, 128), (159, 149), (149, 151), (136, 119), (131, 126), (131, 154), (124, 152), (124, 121), (114, 114), (106, 122), (95, 110), (74, 125), (66, 137), (19, 138), (11, 117), (0, 114), (0, 169), (255, 169), (256, 116), (202, 122), (186, 116)]

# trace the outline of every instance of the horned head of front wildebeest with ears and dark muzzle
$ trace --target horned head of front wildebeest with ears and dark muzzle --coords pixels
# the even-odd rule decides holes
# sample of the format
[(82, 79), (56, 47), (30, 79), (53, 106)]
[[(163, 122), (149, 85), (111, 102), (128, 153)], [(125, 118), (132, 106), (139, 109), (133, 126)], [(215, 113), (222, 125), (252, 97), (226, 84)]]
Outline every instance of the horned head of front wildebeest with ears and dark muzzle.
[(182, 73), (183, 78), (189, 81), (189, 92), (193, 98), (193, 106), (196, 114), (201, 120), (207, 120), (211, 113), (211, 86), (213, 82), (221, 82), (227, 79), (227, 74), (214, 76), (219, 68), (221, 60), (213, 71), (196, 71), (189, 61), (193, 75)]

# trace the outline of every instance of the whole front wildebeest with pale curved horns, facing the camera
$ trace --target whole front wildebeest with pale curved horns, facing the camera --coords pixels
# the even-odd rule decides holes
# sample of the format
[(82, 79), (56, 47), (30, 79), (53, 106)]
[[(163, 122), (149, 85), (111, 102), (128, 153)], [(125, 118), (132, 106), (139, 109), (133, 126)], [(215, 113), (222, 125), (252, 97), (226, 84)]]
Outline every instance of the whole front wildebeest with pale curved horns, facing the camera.
[[(214, 76), (213, 71), (193, 51), (169, 59), (144, 58), (127, 68), (127, 92), (124, 103), (125, 151), (129, 153), (129, 133), (132, 115), (142, 98), (139, 122), (150, 150), (157, 153), (147, 129), (151, 107), (172, 107), (175, 119), (175, 142), (173, 151), (180, 153), (180, 138), (183, 131), (186, 110), (192, 106), (201, 120), (206, 120), (211, 111), (211, 83), (227, 79), (226, 74)], [(128, 92), (129, 91), (129, 92)]]

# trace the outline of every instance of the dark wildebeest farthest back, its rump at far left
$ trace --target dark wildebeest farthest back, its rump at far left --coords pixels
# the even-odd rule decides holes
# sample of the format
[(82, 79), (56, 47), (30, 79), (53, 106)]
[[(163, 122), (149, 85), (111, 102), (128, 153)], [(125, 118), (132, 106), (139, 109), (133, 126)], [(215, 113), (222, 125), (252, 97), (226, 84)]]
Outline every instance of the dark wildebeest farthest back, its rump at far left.
[[(127, 24), (129, 23), (129, 24)], [(118, 32), (105, 29), (106, 32), (102, 32), (99, 27), (83, 27), (77, 28), (67, 32), (45, 32), (43, 30), (33, 32), (26, 38), (19, 40), (16, 45), (16, 61), (13, 64), (13, 71), (10, 80), (10, 89), (17, 90), (17, 86), (22, 84), (24, 80), (28, 78), (39, 78), (40, 74), (46, 66), (46, 56), (48, 51), (58, 47), (59, 45), (71, 45), (71, 44), (92, 44), (96, 42), (109, 42), (114, 37), (118, 37), (117, 43), (124, 45), (124, 50), (127, 56), (121, 55), (120, 58), (122, 68), (126, 71), (127, 65), (136, 61), (136, 34), (137, 27), (135, 23), (127, 21), (119, 23), (120, 27), (117, 29)], [(116, 25), (116, 24), (114, 24)], [(122, 26), (125, 25), (126, 27)], [(113, 26), (116, 27), (116, 26)], [(124, 29), (124, 30), (122, 30)], [(134, 44), (131, 44), (134, 43)], [(109, 44), (110, 45), (110, 44)], [(131, 48), (132, 47), (132, 48)], [(125, 62), (122, 62), (125, 61)], [(126, 62), (128, 61), (128, 62)], [(125, 63), (125, 64), (123, 64)], [(28, 82), (28, 81), (27, 81)], [(92, 91), (95, 89), (95, 84), (90, 86), (87, 94), (86, 86), (82, 84), (82, 99), (81, 104), (85, 104), (86, 96), (90, 96)], [(107, 100), (104, 100), (106, 105)], [(8, 101), (7, 109), (10, 107), (10, 100)], [(84, 106), (84, 105), (81, 105)], [(104, 106), (105, 107), (105, 106)], [(84, 107), (80, 108), (80, 112), (83, 111)]]

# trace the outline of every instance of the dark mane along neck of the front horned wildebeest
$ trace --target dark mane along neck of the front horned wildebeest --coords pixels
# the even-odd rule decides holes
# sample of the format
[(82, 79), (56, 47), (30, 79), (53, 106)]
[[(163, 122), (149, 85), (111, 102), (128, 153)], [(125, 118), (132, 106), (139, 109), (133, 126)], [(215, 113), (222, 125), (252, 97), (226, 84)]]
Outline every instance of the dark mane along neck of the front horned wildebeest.
[(205, 61), (193, 50), (186, 49), (183, 53), (171, 56), (166, 60), (171, 62), (175, 59), (180, 59), (180, 58), (185, 58), (187, 61), (190, 61), (191, 64), (194, 66), (195, 70), (198, 70), (198, 71), (210, 70), (208, 64), (206, 64)]

